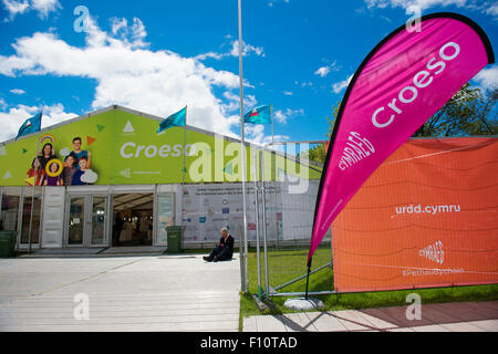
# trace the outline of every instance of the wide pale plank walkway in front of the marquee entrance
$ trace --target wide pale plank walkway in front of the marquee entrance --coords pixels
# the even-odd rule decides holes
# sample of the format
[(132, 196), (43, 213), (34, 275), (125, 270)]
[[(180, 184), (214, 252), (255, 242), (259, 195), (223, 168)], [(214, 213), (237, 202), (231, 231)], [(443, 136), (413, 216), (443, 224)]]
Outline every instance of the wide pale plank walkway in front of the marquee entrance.
[(238, 254), (0, 259), (0, 332), (238, 331), (239, 289)]

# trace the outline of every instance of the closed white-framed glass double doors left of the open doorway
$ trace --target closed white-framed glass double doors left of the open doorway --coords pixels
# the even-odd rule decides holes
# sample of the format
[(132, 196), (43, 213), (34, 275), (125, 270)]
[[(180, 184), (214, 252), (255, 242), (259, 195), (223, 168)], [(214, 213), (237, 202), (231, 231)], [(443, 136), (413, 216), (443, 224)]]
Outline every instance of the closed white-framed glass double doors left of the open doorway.
[(107, 243), (108, 196), (70, 195), (66, 244), (104, 247)]

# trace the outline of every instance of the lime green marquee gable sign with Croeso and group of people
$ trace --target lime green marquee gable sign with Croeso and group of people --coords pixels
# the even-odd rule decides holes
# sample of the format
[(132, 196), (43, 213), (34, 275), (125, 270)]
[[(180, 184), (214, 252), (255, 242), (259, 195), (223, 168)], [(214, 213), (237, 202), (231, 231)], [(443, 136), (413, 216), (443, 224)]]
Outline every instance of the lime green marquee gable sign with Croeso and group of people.
[[(84, 186), (241, 180), (240, 143), (200, 129), (172, 127), (121, 110), (75, 118), (0, 145), (1, 186)], [(38, 144), (40, 139), (40, 144)], [(39, 155), (37, 157), (37, 147)], [(184, 156), (185, 155), (185, 156)], [(247, 180), (252, 149), (246, 148)], [(264, 155), (266, 179), (276, 171), (320, 178), (320, 170)], [(185, 163), (185, 168), (184, 168)], [(272, 168), (277, 165), (278, 168)]]

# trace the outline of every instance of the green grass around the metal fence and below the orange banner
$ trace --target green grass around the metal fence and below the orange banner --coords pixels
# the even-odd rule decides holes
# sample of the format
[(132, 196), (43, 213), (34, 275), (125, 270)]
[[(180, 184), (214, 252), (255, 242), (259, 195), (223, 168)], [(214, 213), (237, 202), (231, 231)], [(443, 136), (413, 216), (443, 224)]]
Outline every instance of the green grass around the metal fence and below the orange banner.
[[(270, 285), (283, 284), (287, 281), (305, 274), (305, 260), (308, 250), (283, 250), (269, 252)], [(249, 259), (249, 293), (258, 293), (257, 281), (257, 256), (251, 250)], [(317, 269), (330, 261), (330, 247), (320, 248), (313, 257), (313, 268)], [(261, 264), (263, 259), (261, 256)], [(299, 264), (302, 264), (302, 269)], [(264, 271), (262, 271), (262, 283), (264, 285)], [(333, 270), (323, 269), (310, 277), (309, 291), (333, 290)], [(281, 292), (304, 292), (305, 279), (300, 280), (289, 287), (280, 290)], [(333, 310), (360, 310), (369, 308), (403, 306), (407, 305), (406, 296), (411, 293), (417, 293), (422, 298), (422, 303), (442, 303), (459, 301), (492, 301), (498, 300), (498, 284), (490, 285), (470, 285), (454, 288), (432, 288), (432, 289), (409, 289), (362, 293), (343, 293), (314, 296), (323, 301), (325, 308), (323, 311)], [(260, 314), (281, 314), (291, 313), (283, 303), (288, 298), (272, 296), (268, 302), (269, 309), (261, 312), (250, 294), (240, 296), (240, 321), (239, 330), (242, 330), (243, 317)]]

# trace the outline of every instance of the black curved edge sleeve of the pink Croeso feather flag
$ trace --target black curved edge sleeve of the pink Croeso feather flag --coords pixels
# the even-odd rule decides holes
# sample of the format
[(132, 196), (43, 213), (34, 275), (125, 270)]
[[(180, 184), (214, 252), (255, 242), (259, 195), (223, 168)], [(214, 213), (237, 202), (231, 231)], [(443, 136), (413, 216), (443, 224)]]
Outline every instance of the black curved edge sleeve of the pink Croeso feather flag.
[[(469, 18), (458, 14), (458, 13), (454, 13), (454, 12), (436, 12), (436, 13), (432, 13), (432, 14), (427, 14), (424, 15), (419, 19), (421, 23), (423, 21), (427, 21), (427, 20), (432, 20), (432, 19), (454, 19), (454, 20), (458, 20), (460, 22), (464, 22), (465, 24), (467, 24), (469, 28), (471, 28), (480, 38), (480, 40), (483, 41), (483, 44), (485, 46), (486, 50), (486, 54), (488, 58), (488, 64), (492, 64), (495, 63), (495, 53), (492, 51), (492, 46), (491, 43), (489, 41), (488, 35), (486, 34), (486, 32), (473, 20), (470, 20)], [(325, 163), (323, 166), (323, 170), (322, 170), (322, 176), (321, 176), (321, 180), (320, 180), (320, 187), (319, 187), (319, 191), (318, 191), (318, 196), (317, 196), (317, 204), (315, 204), (315, 210), (314, 210), (314, 219), (313, 219), (313, 228), (312, 228), (312, 237), (311, 237), (311, 242), (310, 242), (310, 251), (308, 254), (308, 268), (311, 267), (311, 260), (313, 257), (313, 253), (315, 251), (315, 248), (313, 249), (313, 240), (315, 239), (315, 223), (317, 223), (317, 215), (319, 212), (319, 207), (320, 207), (320, 201), (321, 201), (321, 196), (322, 196), (322, 190), (323, 190), (323, 186), (324, 186), (324, 181), (326, 179), (326, 171), (328, 171), (328, 167), (329, 167), (329, 163), (331, 160), (331, 156), (332, 153), (334, 152), (334, 143), (335, 143), (335, 137), (339, 131), (339, 127), (341, 125), (341, 119), (343, 116), (343, 112), (345, 110), (345, 105), (350, 98), (350, 94), (360, 76), (360, 74), (363, 72), (363, 69), (369, 64), (369, 62), (371, 61), (371, 59), (378, 52), (378, 50), (384, 46), (384, 44), (390, 41), (392, 38), (394, 38), (396, 34), (398, 34), (401, 31), (406, 29), (406, 24), (401, 25), (398, 29), (394, 30), (392, 33), (390, 33), (388, 35), (386, 35), (370, 53), (369, 55), (366, 55), (366, 58), (363, 60), (363, 62), (361, 63), (361, 65), (359, 66), (359, 69), (356, 70), (356, 72), (353, 75), (353, 79), (351, 80), (350, 84), (347, 85), (347, 90), (344, 94), (344, 97), (341, 102), (341, 106), (338, 113), (338, 117), (336, 117), (336, 122), (334, 125), (334, 129), (332, 132), (332, 136), (329, 143), (329, 149), (326, 153), (326, 157), (325, 157)], [(429, 118), (429, 117), (427, 117)], [(331, 225), (333, 222), (333, 220), (330, 220)], [(321, 240), (320, 240), (321, 241)], [(317, 246), (320, 242), (317, 242)]]

